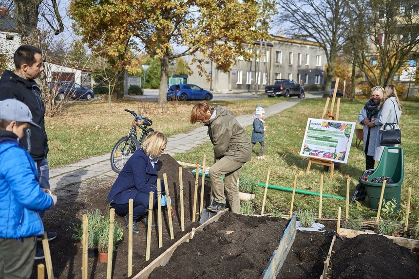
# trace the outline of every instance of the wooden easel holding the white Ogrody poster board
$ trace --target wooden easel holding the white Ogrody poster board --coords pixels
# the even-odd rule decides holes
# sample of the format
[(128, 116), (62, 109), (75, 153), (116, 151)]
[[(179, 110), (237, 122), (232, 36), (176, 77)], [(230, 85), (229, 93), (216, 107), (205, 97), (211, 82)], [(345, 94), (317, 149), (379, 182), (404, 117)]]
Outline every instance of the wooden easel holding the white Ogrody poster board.
[[(339, 120), (339, 108), (341, 105), (341, 98), (338, 98), (338, 103), (336, 105), (336, 113), (333, 113), (333, 108), (335, 106), (335, 99), (336, 99), (336, 91), (338, 90), (338, 84), (339, 84), (339, 78), (336, 78), (335, 90), (333, 91), (332, 104), (330, 106), (330, 110), (326, 114), (327, 108), (329, 107), (329, 101), (330, 101), (330, 98), (327, 98), (326, 105), (324, 105), (324, 109), (323, 109), (322, 119), (325, 119), (325, 117), (327, 117), (327, 119)], [(308, 166), (305, 171), (306, 173), (310, 171), (310, 167), (312, 163), (323, 165), (323, 166), (328, 166), (330, 168), (330, 179), (333, 179), (333, 172), (335, 170), (335, 163), (333, 161), (323, 159), (323, 158), (309, 157)], [(339, 163), (339, 170), (342, 171), (341, 163)]]

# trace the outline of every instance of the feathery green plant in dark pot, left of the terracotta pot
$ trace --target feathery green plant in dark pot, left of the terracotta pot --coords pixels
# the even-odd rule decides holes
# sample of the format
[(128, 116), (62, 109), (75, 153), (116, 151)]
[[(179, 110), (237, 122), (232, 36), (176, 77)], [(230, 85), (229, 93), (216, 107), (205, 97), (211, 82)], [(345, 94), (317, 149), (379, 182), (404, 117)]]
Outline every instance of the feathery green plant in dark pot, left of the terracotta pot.
[[(99, 209), (87, 213), (87, 255), (89, 258), (95, 257), (102, 219), (102, 212)], [(70, 228), (75, 231), (72, 235), (73, 239), (81, 242), (83, 240), (83, 225), (73, 224)]]

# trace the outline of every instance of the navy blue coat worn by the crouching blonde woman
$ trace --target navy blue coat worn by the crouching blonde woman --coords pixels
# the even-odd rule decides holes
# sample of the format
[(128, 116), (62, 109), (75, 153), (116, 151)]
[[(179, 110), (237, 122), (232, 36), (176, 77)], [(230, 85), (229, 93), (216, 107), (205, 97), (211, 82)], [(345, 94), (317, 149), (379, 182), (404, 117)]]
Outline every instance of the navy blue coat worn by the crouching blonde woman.
[[(115, 204), (128, 204), (129, 199), (141, 200), (149, 204), (150, 192), (154, 192), (153, 203), (157, 199), (157, 163), (152, 166), (150, 158), (143, 149), (137, 149), (121, 173), (116, 178), (108, 195), (108, 201)], [(164, 186), (162, 185), (162, 192)], [(139, 195), (139, 196), (137, 196)]]

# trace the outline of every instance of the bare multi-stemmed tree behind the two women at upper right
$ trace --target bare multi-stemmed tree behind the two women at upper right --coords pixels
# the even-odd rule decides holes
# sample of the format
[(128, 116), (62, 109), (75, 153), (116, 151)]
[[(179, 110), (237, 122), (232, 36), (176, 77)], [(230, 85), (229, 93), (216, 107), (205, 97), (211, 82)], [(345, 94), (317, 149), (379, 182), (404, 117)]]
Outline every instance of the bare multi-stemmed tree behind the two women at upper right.
[(417, 5), (415, 0), (353, 1), (351, 17), (357, 24), (351, 40), (366, 39), (356, 48), (347, 50), (371, 86), (391, 84), (400, 68), (417, 51)]

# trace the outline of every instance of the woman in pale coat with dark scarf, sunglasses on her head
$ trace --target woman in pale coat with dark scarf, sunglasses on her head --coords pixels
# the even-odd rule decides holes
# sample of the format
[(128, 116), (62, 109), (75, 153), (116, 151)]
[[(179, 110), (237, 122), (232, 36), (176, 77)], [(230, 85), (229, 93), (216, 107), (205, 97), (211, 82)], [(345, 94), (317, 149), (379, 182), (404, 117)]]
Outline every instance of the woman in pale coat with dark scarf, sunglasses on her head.
[(358, 115), (358, 122), (363, 126), (364, 132), (365, 170), (374, 169), (374, 152), (379, 127), (374, 125), (372, 119), (378, 116), (378, 106), (380, 105), (383, 92), (384, 88), (381, 86), (372, 87), (371, 99), (365, 103)]

